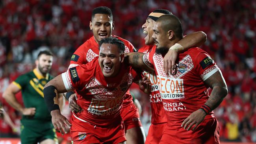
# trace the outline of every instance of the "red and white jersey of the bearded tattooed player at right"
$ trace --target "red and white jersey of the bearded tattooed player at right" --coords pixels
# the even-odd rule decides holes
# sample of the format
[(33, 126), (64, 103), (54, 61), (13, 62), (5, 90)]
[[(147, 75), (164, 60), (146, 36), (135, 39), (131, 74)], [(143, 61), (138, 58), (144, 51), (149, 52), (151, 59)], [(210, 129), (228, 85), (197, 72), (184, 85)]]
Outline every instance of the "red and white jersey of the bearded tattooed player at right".
[[(163, 57), (155, 51), (156, 47), (153, 47), (143, 56), (143, 61), (155, 69), (163, 107), (167, 112), (167, 125), (180, 128), (182, 122), (208, 100), (209, 87), (204, 81), (219, 68), (204, 50), (190, 48), (178, 55), (173, 75), (167, 76), (163, 70)], [(211, 114), (213, 112), (210, 117), (213, 116)]]

